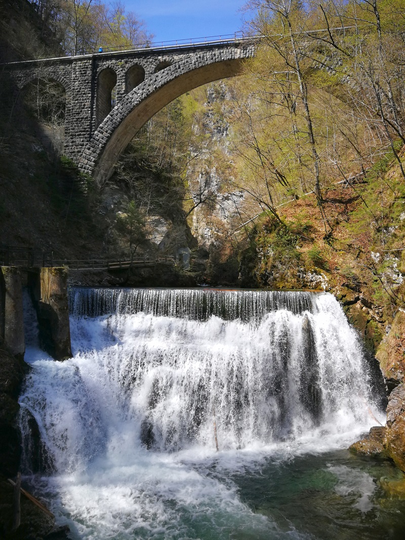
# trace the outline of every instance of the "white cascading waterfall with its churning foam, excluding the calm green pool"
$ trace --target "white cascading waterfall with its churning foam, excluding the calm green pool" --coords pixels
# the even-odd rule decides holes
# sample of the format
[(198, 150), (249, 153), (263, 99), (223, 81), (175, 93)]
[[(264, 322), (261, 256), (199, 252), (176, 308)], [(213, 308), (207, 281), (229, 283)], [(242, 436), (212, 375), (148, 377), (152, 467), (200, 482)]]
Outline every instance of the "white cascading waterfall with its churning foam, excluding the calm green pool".
[(229, 537), (224, 512), (279, 538), (195, 465), (214, 454), (214, 416), (235, 467), (270, 448), (344, 446), (374, 423), (361, 346), (332, 295), (72, 289), (70, 304), (75, 356), (33, 362), (21, 404), (77, 538), (199, 538), (178, 521), (190, 507), (211, 512), (204, 538)]

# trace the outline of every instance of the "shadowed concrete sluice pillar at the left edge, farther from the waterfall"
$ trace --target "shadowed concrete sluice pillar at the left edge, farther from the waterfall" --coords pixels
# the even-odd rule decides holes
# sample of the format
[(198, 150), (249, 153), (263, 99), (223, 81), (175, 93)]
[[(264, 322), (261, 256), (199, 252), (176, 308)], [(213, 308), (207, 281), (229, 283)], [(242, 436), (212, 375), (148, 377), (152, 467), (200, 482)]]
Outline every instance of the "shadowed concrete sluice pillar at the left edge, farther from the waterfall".
[(11, 354), (24, 358), (23, 289), (16, 266), (0, 268), (0, 336)]

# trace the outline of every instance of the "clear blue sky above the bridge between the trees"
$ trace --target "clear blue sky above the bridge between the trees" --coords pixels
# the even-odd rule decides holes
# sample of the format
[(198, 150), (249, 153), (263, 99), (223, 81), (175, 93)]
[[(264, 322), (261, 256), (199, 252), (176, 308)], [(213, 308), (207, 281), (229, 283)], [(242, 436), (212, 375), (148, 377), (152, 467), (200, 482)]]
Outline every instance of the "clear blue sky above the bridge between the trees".
[(246, 0), (124, 0), (154, 41), (231, 34), (241, 30)]

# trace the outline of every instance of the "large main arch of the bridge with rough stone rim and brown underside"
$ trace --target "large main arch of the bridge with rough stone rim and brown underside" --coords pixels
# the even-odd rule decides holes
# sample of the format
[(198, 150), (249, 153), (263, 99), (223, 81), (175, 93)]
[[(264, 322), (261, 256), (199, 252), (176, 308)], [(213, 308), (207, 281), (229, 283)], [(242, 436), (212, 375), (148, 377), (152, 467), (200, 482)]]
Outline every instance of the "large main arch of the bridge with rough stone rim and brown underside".
[(107, 180), (119, 156), (136, 132), (174, 99), (215, 80), (238, 75), (252, 50), (227, 49), (221, 55), (186, 57), (149, 76), (129, 92), (99, 125), (86, 146), (79, 168), (90, 173), (98, 185)]

